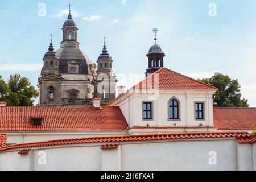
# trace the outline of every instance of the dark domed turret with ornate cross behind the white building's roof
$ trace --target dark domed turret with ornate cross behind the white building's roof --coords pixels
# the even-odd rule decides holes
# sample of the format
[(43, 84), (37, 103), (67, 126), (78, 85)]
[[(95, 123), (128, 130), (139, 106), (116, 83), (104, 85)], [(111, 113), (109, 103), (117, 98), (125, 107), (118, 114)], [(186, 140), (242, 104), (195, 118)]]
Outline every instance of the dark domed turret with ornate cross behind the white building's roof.
[(156, 33), (158, 32), (158, 29), (154, 28), (153, 32), (155, 33), (155, 44), (150, 47), (150, 50), (147, 53), (148, 68), (146, 70), (146, 77), (158, 71), (158, 69), (164, 67), (163, 58), (164, 56), (166, 56), (162, 51), (161, 47), (156, 44)]

